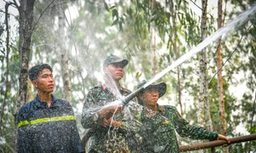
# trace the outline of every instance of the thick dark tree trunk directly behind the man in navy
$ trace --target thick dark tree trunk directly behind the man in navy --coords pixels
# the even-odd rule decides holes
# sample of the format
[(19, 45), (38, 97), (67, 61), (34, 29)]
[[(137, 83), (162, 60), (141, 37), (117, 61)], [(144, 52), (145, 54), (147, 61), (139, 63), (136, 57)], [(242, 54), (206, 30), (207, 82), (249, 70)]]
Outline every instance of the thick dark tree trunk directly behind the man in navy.
[[(20, 107), (26, 104), (26, 91), (27, 91), (27, 72), (28, 62), (30, 57), (30, 43), (33, 31), (33, 8), (35, 0), (20, 0), (20, 6), (15, 3), (15, 6), (19, 11), (19, 54), (20, 54), (20, 89), (19, 97), (16, 101), (17, 111), (16, 115), (20, 111)], [(17, 144), (17, 143), (15, 143)], [(16, 150), (18, 148), (16, 147)]]

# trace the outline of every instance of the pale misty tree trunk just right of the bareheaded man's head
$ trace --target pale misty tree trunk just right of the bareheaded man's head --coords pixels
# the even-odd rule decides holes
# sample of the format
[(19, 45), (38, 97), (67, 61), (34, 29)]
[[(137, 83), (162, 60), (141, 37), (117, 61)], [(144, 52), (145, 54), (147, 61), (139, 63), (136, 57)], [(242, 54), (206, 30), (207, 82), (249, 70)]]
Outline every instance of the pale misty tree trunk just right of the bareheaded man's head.
[(59, 29), (58, 34), (60, 37), (59, 47), (61, 53), (61, 74), (63, 80), (63, 93), (64, 99), (67, 99), (68, 102), (72, 103), (71, 97), (71, 82), (69, 76), (69, 68), (68, 68), (68, 51), (67, 51), (67, 32), (65, 32), (65, 14), (64, 14), (64, 6), (63, 1), (56, 1), (56, 8), (59, 15)]

